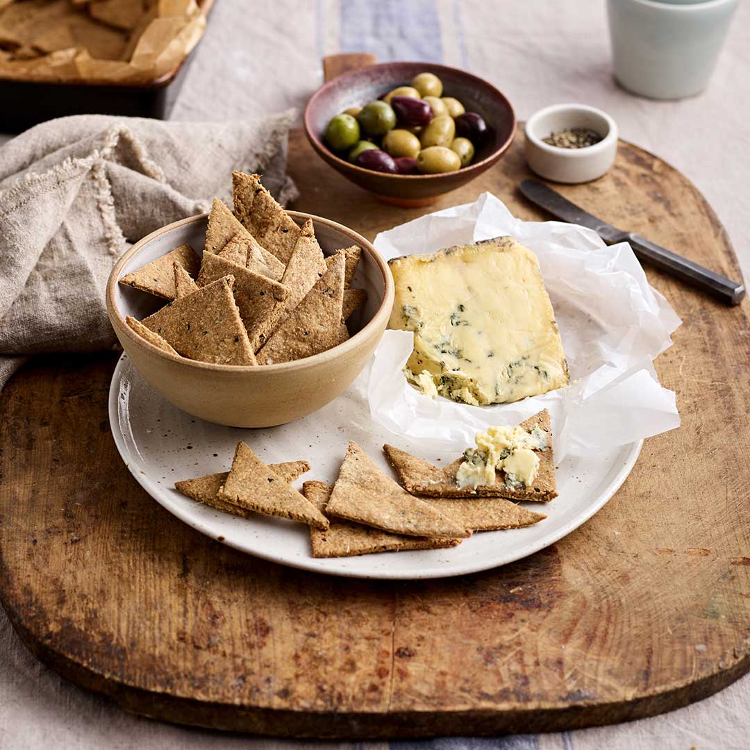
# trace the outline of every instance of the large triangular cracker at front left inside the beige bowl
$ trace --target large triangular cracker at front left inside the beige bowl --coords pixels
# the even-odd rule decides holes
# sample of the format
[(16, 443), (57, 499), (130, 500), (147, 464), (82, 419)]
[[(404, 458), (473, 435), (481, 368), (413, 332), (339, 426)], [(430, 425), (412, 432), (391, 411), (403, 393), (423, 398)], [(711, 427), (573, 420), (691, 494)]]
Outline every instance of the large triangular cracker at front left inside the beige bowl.
[(184, 357), (217, 365), (255, 365), (248, 332), (232, 293), (233, 284), (231, 275), (217, 279), (169, 302), (141, 323)]

